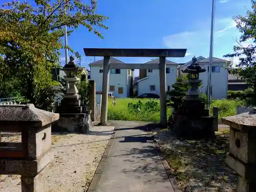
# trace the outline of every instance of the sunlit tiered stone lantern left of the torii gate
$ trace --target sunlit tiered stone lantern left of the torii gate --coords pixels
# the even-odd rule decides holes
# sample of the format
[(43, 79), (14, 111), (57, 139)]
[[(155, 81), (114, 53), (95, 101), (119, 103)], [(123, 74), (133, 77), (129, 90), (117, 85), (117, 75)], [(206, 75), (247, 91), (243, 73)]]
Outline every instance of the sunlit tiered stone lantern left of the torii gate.
[(76, 87), (76, 83), (80, 81), (80, 78), (77, 77), (80, 69), (76, 65), (73, 56), (70, 57), (69, 63), (63, 67), (63, 71), (66, 73), (67, 92), (57, 108), (57, 112), (60, 115), (57, 122), (58, 128), (61, 127), (61, 130), (71, 132), (87, 133), (89, 127), (92, 126), (91, 110), (86, 110), (80, 99), (81, 97)]

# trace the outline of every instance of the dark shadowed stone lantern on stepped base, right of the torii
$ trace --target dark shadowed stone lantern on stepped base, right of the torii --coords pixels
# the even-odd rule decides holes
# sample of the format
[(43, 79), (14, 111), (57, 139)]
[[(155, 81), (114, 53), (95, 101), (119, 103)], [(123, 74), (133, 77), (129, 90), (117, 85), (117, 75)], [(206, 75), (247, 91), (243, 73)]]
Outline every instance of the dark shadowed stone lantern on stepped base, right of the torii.
[(199, 97), (199, 73), (205, 72), (197, 62), (197, 58), (192, 59), (192, 63), (183, 73), (188, 73), (187, 83), (190, 86), (183, 102), (178, 106), (178, 110), (173, 113), (173, 127), (179, 137), (186, 138), (210, 138), (215, 135), (215, 117), (209, 116), (209, 110), (205, 109), (205, 103)]

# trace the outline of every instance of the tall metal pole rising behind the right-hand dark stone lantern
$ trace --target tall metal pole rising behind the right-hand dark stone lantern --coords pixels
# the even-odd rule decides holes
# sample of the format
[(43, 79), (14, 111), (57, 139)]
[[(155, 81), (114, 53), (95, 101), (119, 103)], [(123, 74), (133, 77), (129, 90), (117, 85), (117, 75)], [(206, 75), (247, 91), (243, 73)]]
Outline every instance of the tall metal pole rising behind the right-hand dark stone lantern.
[(211, 28), (210, 28), (210, 56), (209, 56), (209, 68), (208, 68), (209, 71), (208, 71), (208, 86), (207, 86), (207, 109), (210, 109), (212, 53), (213, 53), (213, 46), (214, 46), (214, 16), (215, 16), (215, 0), (212, 0)]

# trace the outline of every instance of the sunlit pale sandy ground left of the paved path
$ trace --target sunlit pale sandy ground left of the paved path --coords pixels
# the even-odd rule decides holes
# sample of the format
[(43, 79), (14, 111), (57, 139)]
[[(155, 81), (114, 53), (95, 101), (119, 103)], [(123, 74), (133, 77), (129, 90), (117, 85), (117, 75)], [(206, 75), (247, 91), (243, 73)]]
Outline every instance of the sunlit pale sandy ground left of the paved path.
[[(113, 131), (113, 126), (95, 126), (86, 135), (53, 133), (54, 160), (41, 172), (45, 191), (86, 191)], [(19, 140), (20, 135), (2, 136), (2, 142)], [(19, 178), (0, 175), (0, 192), (20, 192)]]

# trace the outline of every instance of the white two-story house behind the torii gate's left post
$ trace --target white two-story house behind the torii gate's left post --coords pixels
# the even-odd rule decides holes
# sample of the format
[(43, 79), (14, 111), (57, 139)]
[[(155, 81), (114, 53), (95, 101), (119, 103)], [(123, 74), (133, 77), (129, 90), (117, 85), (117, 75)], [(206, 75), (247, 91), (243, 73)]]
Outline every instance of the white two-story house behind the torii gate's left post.
[[(124, 63), (114, 57), (110, 58), (110, 63)], [(90, 66), (90, 79), (95, 80), (96, 92), (102, 91), (103, 59), (92, 62)], [(131, 69), (111, 69), (109, 77), (109, 92), (114, 97), (130, 97), (133, 93), (133, 75)]]

